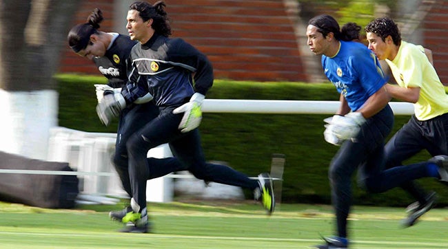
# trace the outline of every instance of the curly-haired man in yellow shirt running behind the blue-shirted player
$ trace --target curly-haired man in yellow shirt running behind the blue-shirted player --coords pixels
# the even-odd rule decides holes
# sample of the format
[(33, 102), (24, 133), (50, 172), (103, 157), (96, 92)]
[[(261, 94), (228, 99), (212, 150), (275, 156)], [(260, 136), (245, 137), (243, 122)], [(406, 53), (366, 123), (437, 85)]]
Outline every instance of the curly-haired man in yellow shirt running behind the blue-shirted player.
[[(400, 166), (423, 149), (433, 156), (447, 155), (448, 96), (425, 49), (402, 41), (398, 26), (388, 17), (374, 19), (365, 31), (369, 49), (387, 62), (398, 84), (386, 85), (389, 94), (414, 104), (414, 115), (386, 144), (386, 167)], [(434, 206), (436, 194), (425, 193), (414, 182), (402, 188), (418, 200), (407, 208), (403, 226), (408, 227)]]

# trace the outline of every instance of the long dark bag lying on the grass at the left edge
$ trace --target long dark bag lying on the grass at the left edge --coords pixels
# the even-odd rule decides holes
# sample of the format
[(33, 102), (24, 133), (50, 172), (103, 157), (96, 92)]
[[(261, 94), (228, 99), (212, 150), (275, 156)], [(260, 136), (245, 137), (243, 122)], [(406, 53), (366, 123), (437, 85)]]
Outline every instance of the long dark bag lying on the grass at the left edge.
[[(73, 171), (67, 162), (45, 162), (0, 151), (0, 169)], [(0, 201), (41, 208), (73, 208), (79, 194), (76, 175), (0, 172)]]

